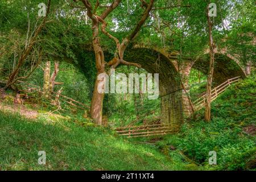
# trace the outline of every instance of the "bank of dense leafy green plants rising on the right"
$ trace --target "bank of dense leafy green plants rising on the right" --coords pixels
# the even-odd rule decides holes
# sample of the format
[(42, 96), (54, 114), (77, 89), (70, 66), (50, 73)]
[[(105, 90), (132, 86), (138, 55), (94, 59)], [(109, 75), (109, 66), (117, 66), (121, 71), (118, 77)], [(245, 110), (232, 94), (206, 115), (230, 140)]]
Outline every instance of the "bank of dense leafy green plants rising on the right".
[[(254, 74), (230, 86), (213, 102), (210, 123), (204, 122), (201, 110), (196, 120), (183, 125), (180, 134), (166, 136), (158, 147), (176, 147), (197, 164), (195, 169), (255, 169), (256, 139), (252, 132), (245, 132), (249, 128), (255, 133), (255, 85)], [(217, 152), (217, 166), (208, 165), (209, 151)]]

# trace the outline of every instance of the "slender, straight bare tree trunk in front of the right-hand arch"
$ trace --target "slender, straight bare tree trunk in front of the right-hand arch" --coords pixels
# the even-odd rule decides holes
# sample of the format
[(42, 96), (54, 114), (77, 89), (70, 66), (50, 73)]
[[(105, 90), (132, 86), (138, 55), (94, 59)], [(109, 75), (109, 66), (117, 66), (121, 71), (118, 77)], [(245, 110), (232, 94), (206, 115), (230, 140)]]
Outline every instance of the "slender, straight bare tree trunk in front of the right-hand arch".
[(212, 80), (213, 80), (213, 71), (214, 71), (214, 52), (215, 52), (215, 45), (213, 42), (212, 36), (212, 28), (213, 23), (210, 20), (209, 16), (209, 6), (207, 7), (207, 21), (208, 21), (208, 28), (209, 28), (209, 53), (210, 53), (210, 65), (209, 65), (209, 73), (207, 78), (207, 92), (206, 92), (206, 102), (205, 102), (205, 121), (210, 121), (210, 102), (212, 100)]

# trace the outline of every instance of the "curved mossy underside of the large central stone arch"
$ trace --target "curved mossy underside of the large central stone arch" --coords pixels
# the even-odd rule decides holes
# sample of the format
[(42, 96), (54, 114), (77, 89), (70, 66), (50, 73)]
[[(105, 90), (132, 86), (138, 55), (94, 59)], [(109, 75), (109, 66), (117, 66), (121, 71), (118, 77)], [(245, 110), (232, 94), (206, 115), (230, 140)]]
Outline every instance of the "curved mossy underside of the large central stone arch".
[(131, 48), (125, 60), (139, 63), (149, 73), (159, 73), (161, 122), (179, 130), (183, 121), (183, 104), (180, 75), (175, 65), (163, 53), (149, 48)]

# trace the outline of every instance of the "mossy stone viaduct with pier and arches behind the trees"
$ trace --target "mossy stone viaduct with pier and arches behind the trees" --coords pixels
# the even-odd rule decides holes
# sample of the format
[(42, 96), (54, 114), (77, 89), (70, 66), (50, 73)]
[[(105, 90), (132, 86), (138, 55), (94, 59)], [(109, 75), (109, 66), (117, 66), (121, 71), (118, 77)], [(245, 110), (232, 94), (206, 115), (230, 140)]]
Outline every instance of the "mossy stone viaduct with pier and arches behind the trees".
[[(177, 54), (168, 53), (162, 49), (134, 47), (127, 50), (125, 60), (139, 63), (149, 73), (159, 73), (159, 90), (161, 99), (161, 122), (171, 125), (178, 131), (183, 119), (192, 114), (192, 103), (187, 92), (188, 77), (191, 69), (197, 69), (205, 74), (209, 69), (209, 53), (196, 59), (187, 58), (177, 61)], [(216, 53), (213, 82), (215, 85), (236, 76), (246, 77), (245, 68), (239, 61), (224, 51)]]

